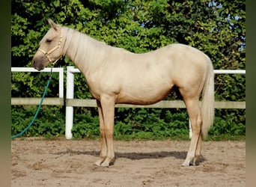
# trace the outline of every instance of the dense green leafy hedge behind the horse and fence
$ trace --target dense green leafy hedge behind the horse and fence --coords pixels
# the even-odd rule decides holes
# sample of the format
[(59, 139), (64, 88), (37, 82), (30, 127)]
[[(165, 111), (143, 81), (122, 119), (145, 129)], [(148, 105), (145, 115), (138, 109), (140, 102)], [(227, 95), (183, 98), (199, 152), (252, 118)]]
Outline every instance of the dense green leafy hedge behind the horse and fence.
[[(167, 0), (12, 0), (12, 67), (31, 67), (38, 43), (49, 29), (47, 19), (75, 28), (97, 40), (131, 52), (148, 52), (170, 43), (185, 43), (205, 52), (216, 70), (246, 68), (245, 1)], [(58, 66), (73, 65), (68, 58)], [(12, 73), (12, 96), (40, 97), (47, 73)], [(47, 96), (58, 96), (54, 74)], [(245, 75), (216, 75), (216, 100), (245, 101)], [(85, 78), (75, 76), (75, 97), (91, 98)], [(170, 94), (168, 99), (177, 99)], [(96, 108), (74, 109), (73, 135), (99, 135)], [(34, 115), (32, 106), (12, 106), (12, 134)], [(64, 107), (44, 107), (27, 135), (63, 135)], [(245, 110), (216, 110), (210, 135), (245, 135)], [(185, 110), (118, 108), (116, 138), (162, 138), (188, 135)]]

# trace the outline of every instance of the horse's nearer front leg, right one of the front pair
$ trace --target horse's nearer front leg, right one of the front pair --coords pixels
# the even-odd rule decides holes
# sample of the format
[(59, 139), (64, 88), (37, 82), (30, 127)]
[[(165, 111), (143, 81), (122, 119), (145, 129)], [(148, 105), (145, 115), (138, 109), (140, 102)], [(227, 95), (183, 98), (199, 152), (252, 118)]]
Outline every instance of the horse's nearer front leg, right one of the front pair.
[[(109, 163), (115, 158), (113, 145), (115, 98), (111, 96), (101, 96), (100, 104), (103, 114), (103, 126), (100, 127), (100, 131), (104, 132), (103, 135), (105, 137), (104, 141), (106, 146), (106, 151), (103, 149), (101, 151), (101, 156), (105, 156), (105, 160), (101, 163), (101, 166), (109, 167)], [(100, 134), (101, 133), (102, 132), (100, 132)]]

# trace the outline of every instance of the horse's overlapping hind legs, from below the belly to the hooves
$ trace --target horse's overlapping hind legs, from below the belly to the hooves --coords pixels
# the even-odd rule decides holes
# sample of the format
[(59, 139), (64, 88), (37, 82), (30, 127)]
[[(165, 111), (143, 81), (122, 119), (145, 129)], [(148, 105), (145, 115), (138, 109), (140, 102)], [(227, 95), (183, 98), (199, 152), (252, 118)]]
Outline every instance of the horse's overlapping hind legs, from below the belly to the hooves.
[(184, 98), (186, 103), (186, 108), (189, 113), (189, 118), (191, 120), (192, 126), (192, 138), (189, 144), (189, 151), (186, 155), (186, 159), (183, 162), (183, 166), (189, 166), (190, 162), (193, 161), (195, 165), (196, 160), (200, 157), (201, 154), (201, 112), (199, 107), (199, 99), (193, 98), (188, 99)]

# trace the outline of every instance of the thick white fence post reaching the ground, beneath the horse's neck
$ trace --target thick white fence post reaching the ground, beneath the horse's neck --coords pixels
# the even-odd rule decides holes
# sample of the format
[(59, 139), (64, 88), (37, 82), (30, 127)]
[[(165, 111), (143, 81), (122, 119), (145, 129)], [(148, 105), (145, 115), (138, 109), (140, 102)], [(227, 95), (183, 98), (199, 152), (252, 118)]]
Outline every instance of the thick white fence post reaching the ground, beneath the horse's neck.
[[(70, 73), (70, 70), (74, 67), (67, 67), (67, 99), (73, 99), (74, 97), (74, 74)], [(72, 138), (71, 129), (73, 127), (73, 106), (66, 106), (66, 139)]]

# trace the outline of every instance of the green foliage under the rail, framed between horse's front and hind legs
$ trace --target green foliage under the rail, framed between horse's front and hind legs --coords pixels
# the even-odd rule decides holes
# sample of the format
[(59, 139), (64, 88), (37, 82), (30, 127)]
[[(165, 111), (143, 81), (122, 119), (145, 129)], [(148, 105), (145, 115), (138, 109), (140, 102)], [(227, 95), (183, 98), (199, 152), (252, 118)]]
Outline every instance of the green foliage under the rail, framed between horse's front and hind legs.
[[(189, 121), (186, 112), (171, 114), (170, 110), (155, 108), (127, 108), (124, 122), (116, 117), (115, 136), (132, 135), (143, 138), (144, 133), (155, 138), (168, 138), (177, 135), (188, 135)], [(124, 111), (123, 111), (124, 112)], [(118, 116), (122, 116), (118, 112)], [(144, 132), (141, 136), (141, 132)], [(147, 136), (145, 136), (147, 138)]]

